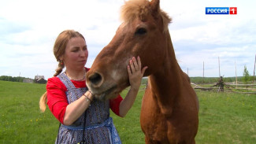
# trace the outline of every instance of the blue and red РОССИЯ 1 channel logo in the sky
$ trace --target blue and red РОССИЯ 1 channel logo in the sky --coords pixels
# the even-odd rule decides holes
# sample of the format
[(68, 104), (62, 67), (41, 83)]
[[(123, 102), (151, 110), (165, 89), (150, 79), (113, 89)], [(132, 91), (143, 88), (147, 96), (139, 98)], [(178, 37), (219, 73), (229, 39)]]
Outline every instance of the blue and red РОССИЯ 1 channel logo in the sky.
[(237, 7), (206, 7), (206, 14), (237, 14)]

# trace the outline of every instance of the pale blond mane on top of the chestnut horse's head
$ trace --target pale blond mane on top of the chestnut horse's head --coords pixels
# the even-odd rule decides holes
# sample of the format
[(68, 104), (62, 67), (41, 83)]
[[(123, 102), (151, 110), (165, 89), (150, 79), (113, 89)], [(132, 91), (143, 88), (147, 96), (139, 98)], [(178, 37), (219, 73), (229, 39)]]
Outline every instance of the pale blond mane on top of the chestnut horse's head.
[[(125, 24), (128, 24), (135, 17), (139, 17), (140, 20), (143, 20), (143, 17), (146, 17), (151, 13), (150, 2), (148, 0), (129, 0), (124, 3), (124, 6), (121, 8), (121, 20)], [(167, 13), (158, 10), (160, 17), (163, 20), (164, 31), (168, 30), (168, 24), (172, 21)]]

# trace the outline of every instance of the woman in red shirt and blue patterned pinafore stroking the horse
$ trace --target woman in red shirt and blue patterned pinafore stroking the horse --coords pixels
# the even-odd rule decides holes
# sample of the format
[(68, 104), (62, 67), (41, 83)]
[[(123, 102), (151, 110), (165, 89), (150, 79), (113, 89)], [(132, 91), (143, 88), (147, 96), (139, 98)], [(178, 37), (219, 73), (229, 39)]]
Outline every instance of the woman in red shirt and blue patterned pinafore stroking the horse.
[[(109, 108), (118, 116), (125, 116), (131, 109), (143, 73), (139, 57), (132, 57), (128, 65), (131, 84), (126, 97), (106, 102), (94, 99), (94, 94), (87, 89), (85, 76), (89, 68), (88, 50), (83, 35), (77, 31), (62, 31), (54, 44), (54, 56), (58, 68), (54, 77), (48, 79), (46, 93), (40, 99), (40, 109), (44, 112), (47, 105), (54, 116), (61, 122), (55, 143), (121, 143), (113, 121), (109, 117)], [(65, 72), (62, 69), (65, 67)], [(139, 69), (139, 70), (135, 70)]]

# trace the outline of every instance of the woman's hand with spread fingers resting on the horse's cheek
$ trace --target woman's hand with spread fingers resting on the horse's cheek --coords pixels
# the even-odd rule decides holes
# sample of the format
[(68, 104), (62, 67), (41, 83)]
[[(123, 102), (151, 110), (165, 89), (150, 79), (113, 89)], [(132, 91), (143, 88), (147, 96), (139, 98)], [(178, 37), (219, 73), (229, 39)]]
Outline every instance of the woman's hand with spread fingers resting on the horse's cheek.
[(139, 90), (141, 79), (143, 78), (147, 66), (141, 68), (141, 61), (139, 57), (137, 57), (137, 61), (135, 57), (132, 57), (132, 60), (130, 60), (129, 63), (130, 65), (128, 65), (128, 76), (131, 89)]

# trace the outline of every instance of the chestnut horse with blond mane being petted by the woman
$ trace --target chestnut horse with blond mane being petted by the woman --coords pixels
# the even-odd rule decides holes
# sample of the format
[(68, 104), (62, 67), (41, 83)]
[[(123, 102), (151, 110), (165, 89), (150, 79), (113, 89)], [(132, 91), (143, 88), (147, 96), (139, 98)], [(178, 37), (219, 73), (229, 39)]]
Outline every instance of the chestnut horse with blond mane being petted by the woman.
[(140, 124), (146, 143), (195, 143), (198, 98), (178, 65), (169, 35), (171, 18), (159, 0), (130, 0), (121, 11), (123, 23), (87, 72), (87, 86), (99, 99), (117, 97), (129, 86), (127, 65), (139, 56), (149, 76)]

